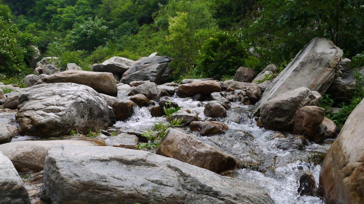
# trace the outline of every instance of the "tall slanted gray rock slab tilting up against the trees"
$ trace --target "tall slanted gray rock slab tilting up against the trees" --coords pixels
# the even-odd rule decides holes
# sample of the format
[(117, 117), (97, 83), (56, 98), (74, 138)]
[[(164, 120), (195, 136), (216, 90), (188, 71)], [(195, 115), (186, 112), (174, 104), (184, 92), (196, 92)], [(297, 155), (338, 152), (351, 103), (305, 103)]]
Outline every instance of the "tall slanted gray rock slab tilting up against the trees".
[(324, 94), (335, 77), (342, 56), (343, 51), (331, 40), (312, 39), (272, 81), (262, 95), (261, 104), (300, 87)]

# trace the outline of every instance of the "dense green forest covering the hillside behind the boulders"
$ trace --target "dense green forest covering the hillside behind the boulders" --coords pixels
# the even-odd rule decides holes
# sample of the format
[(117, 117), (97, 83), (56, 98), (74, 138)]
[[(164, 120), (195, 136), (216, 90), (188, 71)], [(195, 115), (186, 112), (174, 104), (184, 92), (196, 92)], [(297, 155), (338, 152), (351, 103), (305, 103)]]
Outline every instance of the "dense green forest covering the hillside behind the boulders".
[[(84, 70), (111, 56), (173, 57), (174, 80), (283, 68), (313, 37), (364, 61), (363, 0), (0, 0), (0, 72), (25, 76), (30, 44)], [(362, 62), (360, 62), (359, 59)], [(354, 61), (352, 63), (355, 63)], [(359, 65), (357, 65), (359, 66)]]

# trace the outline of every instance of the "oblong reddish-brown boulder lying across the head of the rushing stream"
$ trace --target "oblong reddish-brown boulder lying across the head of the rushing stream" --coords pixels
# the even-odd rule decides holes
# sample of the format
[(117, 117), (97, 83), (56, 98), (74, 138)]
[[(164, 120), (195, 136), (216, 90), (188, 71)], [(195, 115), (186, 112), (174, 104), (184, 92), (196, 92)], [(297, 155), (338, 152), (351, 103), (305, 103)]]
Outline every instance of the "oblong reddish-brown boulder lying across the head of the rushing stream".
[(193, 96), (198, 93), (209, 95), (221, 91), (221, 86), (216, 81), (196, 81), (189, 84), (182, 84), (178, 87), (177, 95), (181, 97)]

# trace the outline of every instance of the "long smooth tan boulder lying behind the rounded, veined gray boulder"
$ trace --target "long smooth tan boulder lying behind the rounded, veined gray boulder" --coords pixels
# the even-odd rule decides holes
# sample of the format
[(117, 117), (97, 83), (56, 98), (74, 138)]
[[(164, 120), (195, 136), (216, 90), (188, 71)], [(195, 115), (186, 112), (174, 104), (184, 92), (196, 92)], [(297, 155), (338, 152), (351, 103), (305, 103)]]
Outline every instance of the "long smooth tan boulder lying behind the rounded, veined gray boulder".
[(76, 83), (89, 86), (99, 93), (118, 95), (118, 88), (111, 73), (68, 70), (42, 79), (44, 83)]

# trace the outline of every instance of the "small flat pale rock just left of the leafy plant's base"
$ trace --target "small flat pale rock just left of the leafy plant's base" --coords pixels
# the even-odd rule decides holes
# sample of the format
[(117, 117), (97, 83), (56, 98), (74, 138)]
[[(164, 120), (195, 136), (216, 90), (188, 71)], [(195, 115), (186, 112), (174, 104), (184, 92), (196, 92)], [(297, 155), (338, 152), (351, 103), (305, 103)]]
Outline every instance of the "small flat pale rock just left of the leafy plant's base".
[(138, 137), (126, 133), (108, 137), (105, 140), (107, 146), (122, 147), (127, 149), (138, 149)]

